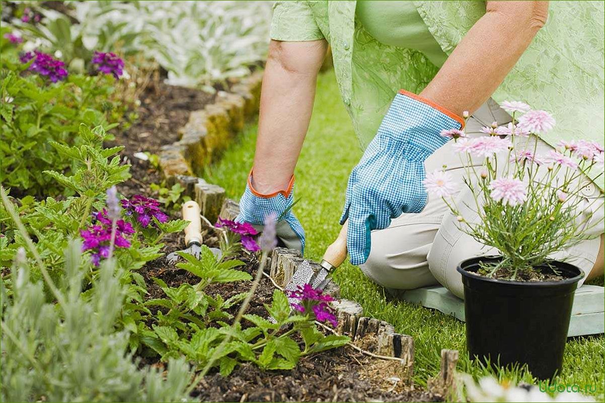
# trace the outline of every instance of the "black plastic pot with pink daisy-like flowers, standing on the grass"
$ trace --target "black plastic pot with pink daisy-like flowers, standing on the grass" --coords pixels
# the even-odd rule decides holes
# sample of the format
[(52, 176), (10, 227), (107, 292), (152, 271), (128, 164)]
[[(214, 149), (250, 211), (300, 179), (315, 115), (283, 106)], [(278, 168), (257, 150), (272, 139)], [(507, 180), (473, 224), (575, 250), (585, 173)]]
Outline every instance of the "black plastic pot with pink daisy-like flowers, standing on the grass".
[(503, 108), (512, 122), (484, 127), (488, 135), (442, 133), (456, 141), (468, 191), (454, 198), (446, 170), (429, 173), (424, 183), (450, 207), (460, 230), (497, 250), (457, 268), (469, 354), (500, 366), (527, 364), (545, 379), (561, 369), (574, 291), (584, 276), (551, 256), (588, 237), (581, 188), (585, 174), (602, 175), (604, 150), (581, 140), (537, 152), (545, 148), (537, 135), (551, 130), (554, 118), (521, 102)]

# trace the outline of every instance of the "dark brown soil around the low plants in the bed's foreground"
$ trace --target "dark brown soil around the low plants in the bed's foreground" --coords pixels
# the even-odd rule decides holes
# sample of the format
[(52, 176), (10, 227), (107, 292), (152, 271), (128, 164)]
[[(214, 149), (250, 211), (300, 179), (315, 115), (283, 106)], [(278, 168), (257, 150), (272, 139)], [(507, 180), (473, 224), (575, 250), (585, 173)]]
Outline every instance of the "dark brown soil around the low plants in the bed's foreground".
[[(208, 239), (212, 242), (212, 237)], [(238, 259), (246, 262), (241, 269), (255, 276), (256, 256), (242, 253)], [(140, 273), (148, 286), (147, 298), (165, 297), (151, 277), (158, 277), (169, 286), (199, 282), (198, 277), (166, 264), (163, 258), (150, 262)], [(249, 291), (251, 284), (251, 281), (213, 284), (205, 291), (226, 299)], [(274, 289), (269, 280), (263, 279), (246, 313), (266, 316), (263, 304), (270, 304)], [(237, 309), (236, 305), (229, 312), (235, 315)], [(244, 321), (242, 325), (245, 328), (248, 324)], [(155, 360), (146, 358), (145, 363), (163, 366)], [(345, 346), (304, 356), (292, 370), (263, 371), (253, 364), (243, 364), (227, 377), (211, 372), (197, 385), (192, 396), (210, 402), (442, 401), (440, 396), (405, 385), (401, 381), (401, 371), (402, 367), (396, 361), (370, 358)]]

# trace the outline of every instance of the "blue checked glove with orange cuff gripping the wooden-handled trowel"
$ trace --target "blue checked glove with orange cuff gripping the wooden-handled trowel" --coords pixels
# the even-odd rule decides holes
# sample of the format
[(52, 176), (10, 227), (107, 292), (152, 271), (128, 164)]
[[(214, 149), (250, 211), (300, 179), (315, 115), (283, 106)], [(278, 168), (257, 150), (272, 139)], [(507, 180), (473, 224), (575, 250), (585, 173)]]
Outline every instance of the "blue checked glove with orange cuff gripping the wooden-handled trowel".
[(348, 219), (347, 250), (359, 265), (370, 254), (370, 231), (387, 228), (401, 213), (427, 204), (424, 161), (448, 141), (440, 132), (461, 129), (464, 120), (404, 90), (348, 178), (341, 225)]

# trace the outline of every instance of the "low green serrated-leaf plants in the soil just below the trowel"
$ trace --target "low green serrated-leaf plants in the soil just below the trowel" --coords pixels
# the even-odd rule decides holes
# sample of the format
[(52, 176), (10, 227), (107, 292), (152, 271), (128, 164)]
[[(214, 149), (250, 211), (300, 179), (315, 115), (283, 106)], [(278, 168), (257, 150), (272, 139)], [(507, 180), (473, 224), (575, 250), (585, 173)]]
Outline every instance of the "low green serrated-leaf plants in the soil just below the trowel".
[[(178, 263), (178, 268), (191, 272), (200, 281), (169, 287), (162, 280), (153, 279), (166, 297), (144, 303), (146, 308), (157, 311), (137, 315), (138, 338), (133, 335), (137, 340), (132, 346), (140, 343), (163, 360), (185, 355), (198, 368), (211, 364), (226, 376), (242, 362), (267, 370), (292, 369), (302, 355), (340, 347), (349, 341), (348, 337), (324, 336), (309, 315), (291, 312), (286, 295), (279, 290), (273, 293), (271, 305), (266, 305), (267, 317), (275, 318), (275, 323), (246, 314), (243, 317), (250, 326), (232, 326), (227, 322), (233, 319), (228, 310), (244, 300), (246, 293), (224, 300), (221, 295), (212, 296), (204, 290), (212, 283), (251, 280), (250, 274), (235, 269), (244, 263), (217, 259), (206, 246), (202, 247), (200, 259), (185, 253), (180, 256), (186, 262)], [(292, 338), (296, 333), (304, 341), (302, 347)], [(229, 335), (231, 340), (223, 343)]]

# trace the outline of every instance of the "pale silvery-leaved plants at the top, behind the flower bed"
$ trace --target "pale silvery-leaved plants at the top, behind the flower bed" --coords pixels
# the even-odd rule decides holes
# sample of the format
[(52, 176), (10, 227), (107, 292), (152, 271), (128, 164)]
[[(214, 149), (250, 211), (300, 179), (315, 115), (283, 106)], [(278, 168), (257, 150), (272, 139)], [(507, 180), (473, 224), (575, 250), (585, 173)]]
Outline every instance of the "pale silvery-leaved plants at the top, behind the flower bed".
[(212, 92), (267, 54), (269, 1), (77, 2), (74, 13), (85, 43), (103, 48), (111, 37), (126, 53), (157, 61), (171, 85)]

